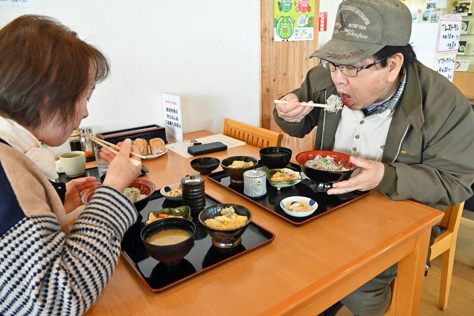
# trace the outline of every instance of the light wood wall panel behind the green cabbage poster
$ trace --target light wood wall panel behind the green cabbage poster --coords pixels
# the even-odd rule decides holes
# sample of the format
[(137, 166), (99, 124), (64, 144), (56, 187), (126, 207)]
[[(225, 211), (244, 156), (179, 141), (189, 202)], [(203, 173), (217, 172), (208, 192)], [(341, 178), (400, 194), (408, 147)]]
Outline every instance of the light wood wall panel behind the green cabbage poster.
[[(309, 56), (318, 48), (319, 0), (315, 1), (315, 39), (313, 41), (274, 41), (274, 2), (260, 0), (261, 4), (261, 80), (262, 122), (264, 128), (281, 132), (273, 120), (274, 99), (278, 99), (301, 85), (306, 73), (317, 64)], [(294, 156), (314, 149), (315, 131), (304, 138), (284, 133), (282, 146), (291, 148)]]

